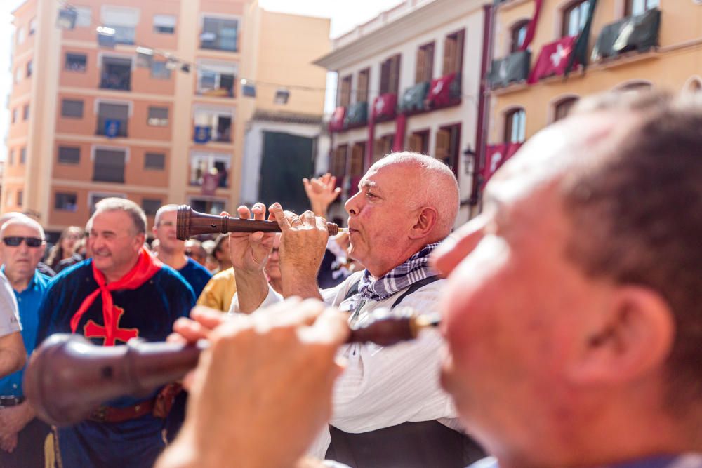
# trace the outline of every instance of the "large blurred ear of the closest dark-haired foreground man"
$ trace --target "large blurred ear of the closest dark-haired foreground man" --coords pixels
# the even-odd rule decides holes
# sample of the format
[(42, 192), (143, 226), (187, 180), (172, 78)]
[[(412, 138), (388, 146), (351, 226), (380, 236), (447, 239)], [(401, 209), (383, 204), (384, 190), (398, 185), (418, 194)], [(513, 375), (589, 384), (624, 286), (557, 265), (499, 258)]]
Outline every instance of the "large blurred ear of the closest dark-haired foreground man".
[(625, 382), (660, 368), (675, 339), (668, 302), (650, 288), (623, 286), (604, 307), (602, 320), (581, 334), (571, 378), (583, 385)]

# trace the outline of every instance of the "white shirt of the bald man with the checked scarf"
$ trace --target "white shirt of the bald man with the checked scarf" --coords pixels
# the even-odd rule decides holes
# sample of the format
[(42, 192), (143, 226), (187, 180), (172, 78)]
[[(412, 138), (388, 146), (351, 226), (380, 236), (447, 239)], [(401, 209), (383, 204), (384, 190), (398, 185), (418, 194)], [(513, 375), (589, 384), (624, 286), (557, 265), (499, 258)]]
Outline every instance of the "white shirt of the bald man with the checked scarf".
[[(324, 302), (338, 307), (362, 274), (357, 272), (336, 288), (321, 290)], [(443, 283), (444, 280), (435, 281), (416, 290), (402, 300), (402, 307), (423, 313), (437, 312)], [(367, 320), (374, 309), (390, 308), (403, 292), (386, 300), (367, 302), (360, 309), (356, 323)], [(269, 286), (260, 307), (280, 301), (282, 296)], [(230, 313), (237, 312), (239, 300), (234, 295)], [(456, 417), (449, 395), (439, 386), (441, 345), (439, 333), (428, 330), (416, 340), (390, 347), (371, 343), (340, 347), (338, 354), (346, 359), (347, 367), (334, 387), (333, 415), (329, 423), (344, 432), (359, 433), (408, 421)], [(450, 422), (446, 425), (453, 427)], [(329, 429), (325, 427), (310, 447), (310, 455), (323, 458), (330, 442)]]

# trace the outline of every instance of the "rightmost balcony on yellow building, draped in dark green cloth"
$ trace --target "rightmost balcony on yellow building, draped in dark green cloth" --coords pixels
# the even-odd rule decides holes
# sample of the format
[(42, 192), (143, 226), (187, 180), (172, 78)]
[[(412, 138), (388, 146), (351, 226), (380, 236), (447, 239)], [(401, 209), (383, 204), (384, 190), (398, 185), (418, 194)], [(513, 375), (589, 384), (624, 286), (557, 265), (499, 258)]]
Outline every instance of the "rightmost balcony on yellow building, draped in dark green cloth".
[(658, 46), (660, 28), (661, 11), (658, 8), (606, 25), (597, 36), (592, 61), (614, 59), (628, 52), (649, 51)]

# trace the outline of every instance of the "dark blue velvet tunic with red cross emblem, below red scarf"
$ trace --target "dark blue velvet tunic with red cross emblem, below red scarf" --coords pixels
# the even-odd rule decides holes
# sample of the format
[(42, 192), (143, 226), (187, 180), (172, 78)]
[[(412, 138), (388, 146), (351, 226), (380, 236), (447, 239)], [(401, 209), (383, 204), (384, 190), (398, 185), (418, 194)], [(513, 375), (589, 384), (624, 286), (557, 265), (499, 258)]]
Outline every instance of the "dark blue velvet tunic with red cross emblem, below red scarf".
[[(56, 276), (39, 308), (37, 343), (53, 333), (71, 333), (70, 321), (81, 303), (98, 288), (93, 278), (92, 260), (85, 260)], [(187, 316), (195, 304), (192, 288), (170, 267), (162, 267), (151, 279), (135, 290), (112, 291), (116, 307), (124, 309), (119, 328), (136, 328), (138, 337), (163, 341), (171, 333), (173, 322)], [(78, 323), (76, 333), (84, 334), (88, 321), (105, 326), (100, 295)], [(93, 337), (95, 345), (102, 338)], [(124, 344), (117, 341), (117, 345)], [(108, 406), (127, 407), (153, 398), (123, 397)], [(125, 468), (152, 467), (164, 442), (164, 420), (152, 415), (124, 422), (84, 421), (58, 429), (58, 446), (64, 467)]]

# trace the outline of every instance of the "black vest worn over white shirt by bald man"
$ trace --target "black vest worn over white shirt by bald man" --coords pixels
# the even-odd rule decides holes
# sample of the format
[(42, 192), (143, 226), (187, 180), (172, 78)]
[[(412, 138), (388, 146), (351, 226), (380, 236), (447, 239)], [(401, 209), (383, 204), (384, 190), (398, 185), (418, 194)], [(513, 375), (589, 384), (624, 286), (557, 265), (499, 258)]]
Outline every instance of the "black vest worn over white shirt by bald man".
[[(413, 283), (391, 308), (438, 279), (429, 276)], [(357, 292), (358, 283), (355, 283), (344, 299)], [(482, 448), (470, 437), (437, 421), (403, 422), (360, 434), (329, 426), (329, 433), (331, 443), (326, 459), (352, 468), (464, 468), (485, 457)]]

